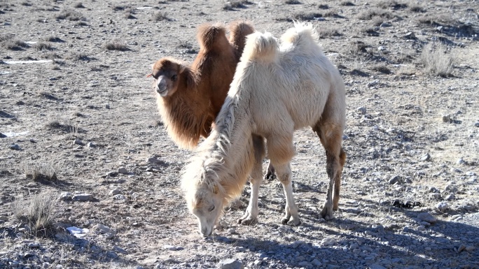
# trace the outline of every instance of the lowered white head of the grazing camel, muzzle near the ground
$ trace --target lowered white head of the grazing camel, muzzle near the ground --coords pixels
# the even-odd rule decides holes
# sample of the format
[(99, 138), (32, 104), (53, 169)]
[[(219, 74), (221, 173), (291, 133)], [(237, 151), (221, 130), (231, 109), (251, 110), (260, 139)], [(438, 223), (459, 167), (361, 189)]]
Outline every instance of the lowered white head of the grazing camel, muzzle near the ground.
[(199, 221), (200, 233), (203, 236), (211, 235), (225, 206), (223, 187), (218, 182), (202, 180), (195, 186), (183, 185), (183, 189), (186, 189), (188, 209)]

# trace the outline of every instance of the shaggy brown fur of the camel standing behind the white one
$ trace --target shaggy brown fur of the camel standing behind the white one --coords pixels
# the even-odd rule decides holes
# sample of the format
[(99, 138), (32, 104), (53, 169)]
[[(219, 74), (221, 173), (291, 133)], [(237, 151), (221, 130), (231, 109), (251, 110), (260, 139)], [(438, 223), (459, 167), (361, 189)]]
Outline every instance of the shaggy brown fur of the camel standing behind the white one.
[(167, 82), (173, 85), (174, 89), (169, 89), (171, 94), (158, 94), (158, 109), (169, 136), (180, 147), (196, 147), (200, 137), (211, 132), (240, 61), (246, 36), (253, 32), (246, 22), (232, 23), (228, 41), (224, 27), (203, 24), (197, 31), (200, 52), (190, 66), (171, 58), (160, 59), (153, 65), (151, 74), (157, 80), (157, 91), (161, 75), (178, 76), (176, 82)]

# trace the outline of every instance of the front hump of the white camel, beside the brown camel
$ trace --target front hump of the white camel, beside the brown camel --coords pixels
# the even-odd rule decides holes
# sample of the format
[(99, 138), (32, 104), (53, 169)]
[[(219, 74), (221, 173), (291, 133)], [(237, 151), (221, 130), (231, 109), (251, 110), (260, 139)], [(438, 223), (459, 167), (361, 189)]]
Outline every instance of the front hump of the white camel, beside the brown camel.
[(275, 61), (277, 59), (278, 42), (271, 33), (256, 31), (247, 37), (242, 55), (242, 61), (261, 60)]

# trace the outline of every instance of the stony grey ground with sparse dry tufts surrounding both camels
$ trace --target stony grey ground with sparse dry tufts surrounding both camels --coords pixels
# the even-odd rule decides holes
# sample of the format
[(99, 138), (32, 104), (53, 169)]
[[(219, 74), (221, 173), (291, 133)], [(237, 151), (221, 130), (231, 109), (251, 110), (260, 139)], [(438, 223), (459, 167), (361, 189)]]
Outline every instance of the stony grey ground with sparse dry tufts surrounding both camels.
[[(479, 3), (0, 1), (0, 268), (479, 268)], [(249, 187), (202, 238), (179, 189), (195, 154), (165, 133), (151, 64), (195, 31), (309, 21), (347, 86), (340, 210), (310, 129), (258, 224)], [(266, 167), (266, 161), (265, 161)]]

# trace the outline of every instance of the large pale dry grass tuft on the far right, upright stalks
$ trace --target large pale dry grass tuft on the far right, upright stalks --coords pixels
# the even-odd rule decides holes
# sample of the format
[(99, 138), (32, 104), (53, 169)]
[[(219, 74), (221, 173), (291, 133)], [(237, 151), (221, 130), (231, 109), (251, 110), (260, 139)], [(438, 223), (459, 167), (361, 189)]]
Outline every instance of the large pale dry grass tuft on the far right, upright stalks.
[(444, 78), (452, 76), (454, 67), (454, 54), (448, 47), (441, 43), (428, 43), (422, 48), (421, 64), (425, 73), (438, 75)]

